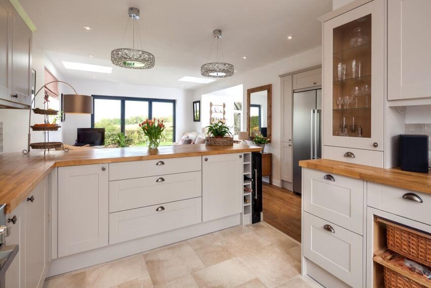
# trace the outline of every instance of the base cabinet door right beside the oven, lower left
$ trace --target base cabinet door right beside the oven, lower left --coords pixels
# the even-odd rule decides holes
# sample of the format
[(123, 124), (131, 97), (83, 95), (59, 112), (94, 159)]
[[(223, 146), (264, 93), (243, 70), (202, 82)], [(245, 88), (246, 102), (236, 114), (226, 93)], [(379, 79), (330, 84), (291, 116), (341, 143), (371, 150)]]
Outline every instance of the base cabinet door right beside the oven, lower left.
[(18, 245), (18, 253), (15, 256), (14, 261), (6, 271), (6, 287), (25, 287), (25, 201), (16, 207), (12, 213), (6, 216), (6, 219), (14, 219), (8, 224), (11, 225), (11, 235), (6, 238), (7, 245)]

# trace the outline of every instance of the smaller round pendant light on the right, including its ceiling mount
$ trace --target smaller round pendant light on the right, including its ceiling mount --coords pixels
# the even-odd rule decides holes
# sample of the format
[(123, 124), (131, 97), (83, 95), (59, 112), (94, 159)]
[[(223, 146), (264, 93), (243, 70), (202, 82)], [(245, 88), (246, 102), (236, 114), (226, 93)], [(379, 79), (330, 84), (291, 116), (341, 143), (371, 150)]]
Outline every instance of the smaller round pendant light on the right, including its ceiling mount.
[[(222, 30), (215, 29), (212, 31), (212, 37), (214, 38), (214, 41), (212, 42), (212, 46), (214, 46), (215, 42), (215, 62), (206, 62), (204, 65), (201, 66), (200, 71), (201, 75), (205, 77), (212, 77), (212, 78), (226, 78), (230, 77), (234, 74), (233, 65), (225, 62), (219, 62), (219, 46), (221, 51), (221, 58), (224, 61), (223, 56), (223, 50), (222, 50), (222, 41), (220, 38), (222, 38)], [(209, 56), (211, 56), (211, 49), (209, 50)], [(209, 60), (208, 56), (208, 60)]]

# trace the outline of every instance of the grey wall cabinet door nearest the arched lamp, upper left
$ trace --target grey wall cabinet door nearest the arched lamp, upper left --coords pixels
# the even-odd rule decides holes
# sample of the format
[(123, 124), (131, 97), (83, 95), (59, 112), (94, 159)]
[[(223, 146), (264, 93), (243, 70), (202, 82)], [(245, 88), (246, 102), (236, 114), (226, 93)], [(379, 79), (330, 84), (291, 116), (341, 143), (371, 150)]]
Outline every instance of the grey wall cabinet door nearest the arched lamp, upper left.
[(12, 30), (12, 93), (9, 101), (30, 106), (32, 33), (16, 11)]

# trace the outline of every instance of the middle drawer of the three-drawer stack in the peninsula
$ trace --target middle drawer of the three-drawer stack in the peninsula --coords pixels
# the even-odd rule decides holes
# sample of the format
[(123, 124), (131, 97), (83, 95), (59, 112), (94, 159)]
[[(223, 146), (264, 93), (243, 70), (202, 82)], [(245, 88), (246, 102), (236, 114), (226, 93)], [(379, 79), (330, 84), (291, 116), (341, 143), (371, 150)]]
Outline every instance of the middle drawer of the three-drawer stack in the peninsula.
[(110, 181), (109, 212), (201, 196), (201, 171)]

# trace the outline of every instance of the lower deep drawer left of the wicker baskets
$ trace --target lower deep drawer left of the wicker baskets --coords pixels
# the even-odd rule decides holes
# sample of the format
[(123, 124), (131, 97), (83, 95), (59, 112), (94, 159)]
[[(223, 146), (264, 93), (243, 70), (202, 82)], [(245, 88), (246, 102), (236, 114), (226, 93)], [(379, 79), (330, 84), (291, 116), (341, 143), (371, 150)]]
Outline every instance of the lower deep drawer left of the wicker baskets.
[(307, 212), (303, 225), (304, 257), (350, 286), (363, 287), (363, 237)]

